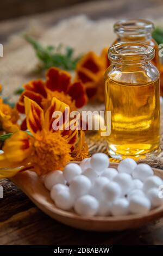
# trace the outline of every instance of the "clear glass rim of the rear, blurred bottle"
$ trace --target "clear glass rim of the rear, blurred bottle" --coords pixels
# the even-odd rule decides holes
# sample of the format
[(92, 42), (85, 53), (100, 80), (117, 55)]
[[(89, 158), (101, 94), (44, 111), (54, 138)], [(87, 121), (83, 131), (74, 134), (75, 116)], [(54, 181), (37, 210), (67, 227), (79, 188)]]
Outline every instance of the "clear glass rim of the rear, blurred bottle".
[(114, 32), (118, 35), (142, 36), (151, 34), (154, 30), (152, 21), (143, 19), (120, 20), (114, 25)]

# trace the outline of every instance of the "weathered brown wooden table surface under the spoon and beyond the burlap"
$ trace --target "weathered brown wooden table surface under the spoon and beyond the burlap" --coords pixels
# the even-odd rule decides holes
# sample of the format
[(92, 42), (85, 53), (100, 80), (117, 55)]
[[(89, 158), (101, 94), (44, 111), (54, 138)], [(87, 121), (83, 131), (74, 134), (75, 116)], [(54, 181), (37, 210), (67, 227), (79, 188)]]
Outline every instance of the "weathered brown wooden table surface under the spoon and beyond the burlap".
[[(101, 17), (161, 17), (162, 0), (111, 0), (95, 1), (47, 14), (33, 16), (43, 26), (77, 14), (87, 14), (92, 19)], [(26, 28), (31, 17), (22, 17), (0, 23), (0, 42), (12, 33)], [(137, 230), (114, 233), (81, 231), (60, 224), (43, 214), (11, 181), (0, 181), (4, 198), (0, 199), (1, 245), (163, 245), (163, 218)]]

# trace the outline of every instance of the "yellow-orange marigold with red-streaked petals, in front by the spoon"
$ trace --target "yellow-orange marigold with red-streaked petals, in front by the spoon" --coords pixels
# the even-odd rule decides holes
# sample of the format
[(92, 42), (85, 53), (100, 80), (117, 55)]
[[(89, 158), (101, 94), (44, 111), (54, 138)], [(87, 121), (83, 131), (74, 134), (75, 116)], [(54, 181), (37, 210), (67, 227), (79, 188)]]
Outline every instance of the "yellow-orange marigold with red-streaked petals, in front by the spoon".
[(32, 135), (18, 131), (5, 141), (4, 154), (0, 155), (0, 178), (13, 176), (26, 169), (33, 169), (38, 175), (52, 170), (62, 170), (68, 162), (76, 159), (72, 152), (77, 150), (79, 144), (78, 157), (83, 154), (82, 149), (85, 146), (83, 147), (82, 143), (85, 142), (81, 142), (80, 139), (80, 143), (78, 142), (78, 130), (66, 129), (67, 125), (71, 127), (71, 124), (78, 124), (77, 120), (73, 119), (69, 124), (65, 118), (63, 129), (53, 130), (53, 122), (58, 121), (52, 117), (53, 112), (60, 111), (65, 116), (65, 109), (69, 108), (64, 102), (53, 97), (51, 105), (44, 114), (43, 109), (35, 101), (25, 96), (24, 107), (27, 127)]

